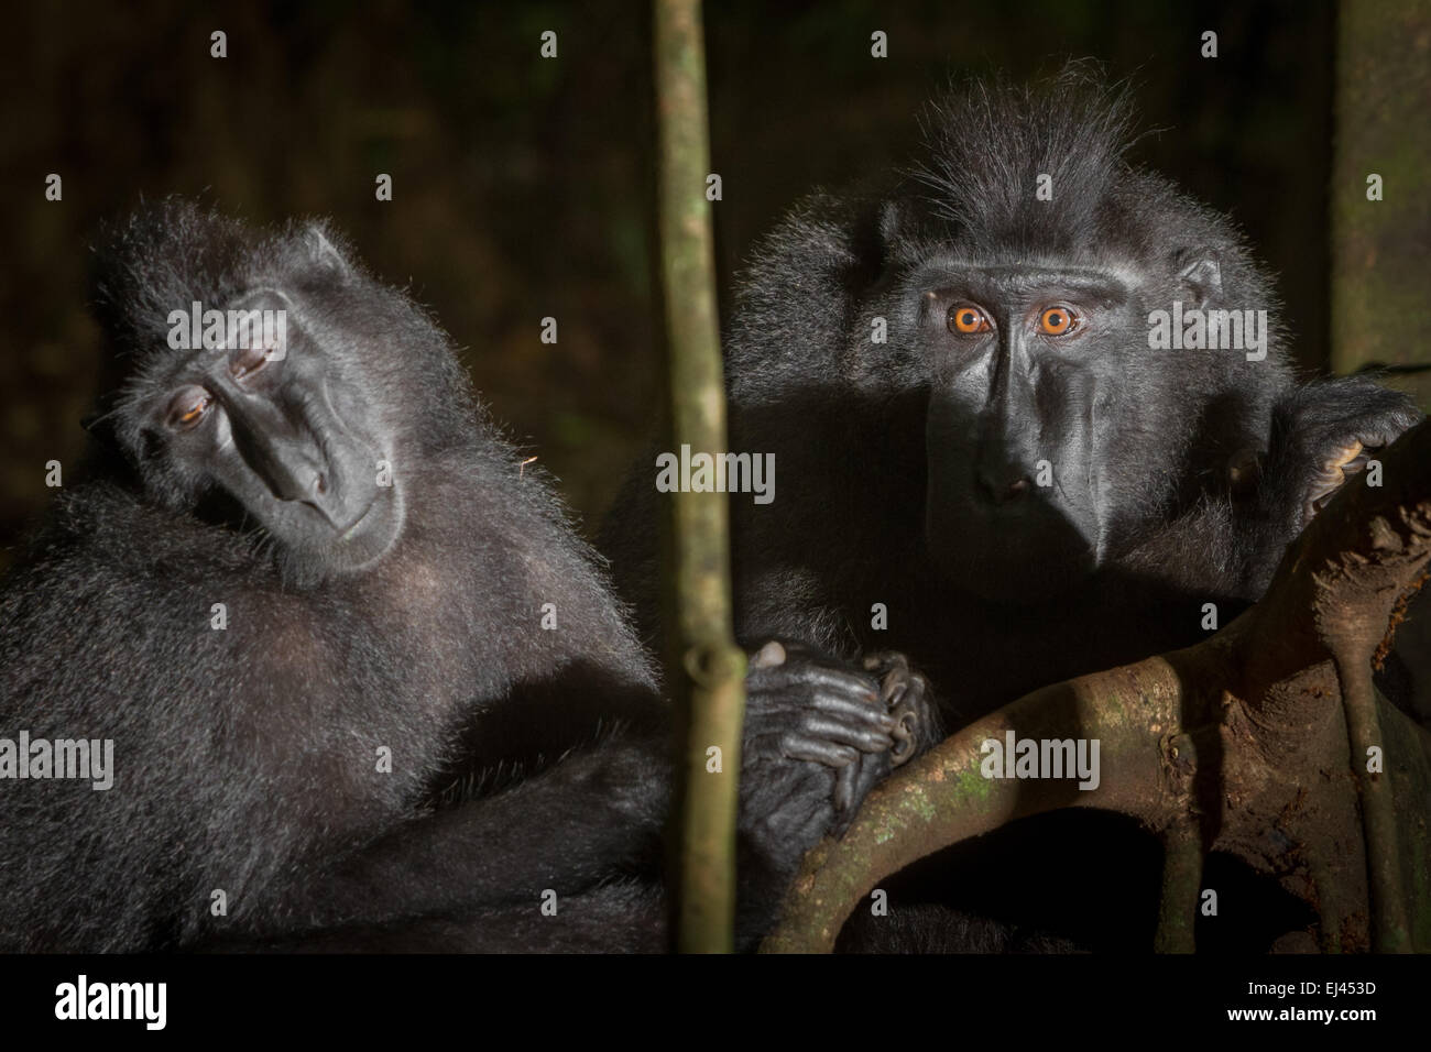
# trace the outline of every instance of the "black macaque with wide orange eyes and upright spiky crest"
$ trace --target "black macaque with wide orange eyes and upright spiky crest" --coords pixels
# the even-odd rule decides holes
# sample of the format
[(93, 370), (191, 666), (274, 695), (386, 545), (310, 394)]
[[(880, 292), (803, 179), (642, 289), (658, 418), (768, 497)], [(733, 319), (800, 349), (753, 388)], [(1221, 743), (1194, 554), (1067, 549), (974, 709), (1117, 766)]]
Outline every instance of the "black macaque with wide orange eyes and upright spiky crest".
[[(1271, 278), (1226, 218), (1128, 162), (1129, 123), (1078, 64), (973, 83), (929, 109), (883, 190), (816, 193), (758, 245), (726, 333), (730, 441), (773, 452), (778, 485), (730, 498), (743, 640), (899, 650), (954, 729), (1196, 643), (1206, 603), (1226, 624), (1420, 419), (1368, 379), (1295, 378)], [(602, 544), (643, 631), (648, 464)], [(1125, 869), (1065, 820), (1020, 823), (1037, 834), (1016, 856), (1003, 832), (960, 846), (943, 887), (1079, 945), (1151, 948), (1156, 846)], [(1238, 902), (1269, 937), (1295, 925)]]

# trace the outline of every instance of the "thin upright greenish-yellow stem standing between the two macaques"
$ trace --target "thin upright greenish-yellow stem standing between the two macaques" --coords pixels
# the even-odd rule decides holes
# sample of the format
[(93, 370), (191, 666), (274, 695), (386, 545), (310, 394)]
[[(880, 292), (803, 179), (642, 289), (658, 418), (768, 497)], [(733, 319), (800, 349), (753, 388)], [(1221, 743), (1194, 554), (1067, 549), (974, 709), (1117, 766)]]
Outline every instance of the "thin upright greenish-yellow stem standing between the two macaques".
[[(675, 448), (726, 449), (726, 398), (716, 318), (716, 262), (705, 176), (705, 53), (700, 0), (655, 3), (660, 232)], [(681, 711), (675, 794), (675, 948), (730, 952), (736, 917), (736, 812), (746, 714), (746, 658), (730, 610), (724, 494), (675, 492), (675, 633), (667, 684)], [(710, 767), (720, 749), (720, 771)]]

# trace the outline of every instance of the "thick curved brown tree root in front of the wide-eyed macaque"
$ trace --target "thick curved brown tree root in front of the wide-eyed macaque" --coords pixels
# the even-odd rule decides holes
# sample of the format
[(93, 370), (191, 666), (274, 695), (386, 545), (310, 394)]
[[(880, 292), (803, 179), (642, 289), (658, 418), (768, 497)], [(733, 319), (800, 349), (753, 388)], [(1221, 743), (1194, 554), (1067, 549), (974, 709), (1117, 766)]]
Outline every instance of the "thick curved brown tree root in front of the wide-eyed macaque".
[[(1224, 631), (1027, 694), (879, 786), (841, 842), (807, 854), (764, 949), (829, 950), (890, 873), (1062, 807), (1129, 814), (1171, 844), (1161, 949), (1192, 948), (1201, 862), (1189, 843), (1311, 903), (1324, 949), (1431, 949), (1431, 734), (1371, 688), (1372, 658), (1431, 560), (1431, 424), (1381, 461), (1385, 484), (1345, 487)], [(985, 779), (980, 744), (1007, 731), (1100, 740), (1098, 787)], [(1384, 774), (1367, 771), (1371, 746)]]

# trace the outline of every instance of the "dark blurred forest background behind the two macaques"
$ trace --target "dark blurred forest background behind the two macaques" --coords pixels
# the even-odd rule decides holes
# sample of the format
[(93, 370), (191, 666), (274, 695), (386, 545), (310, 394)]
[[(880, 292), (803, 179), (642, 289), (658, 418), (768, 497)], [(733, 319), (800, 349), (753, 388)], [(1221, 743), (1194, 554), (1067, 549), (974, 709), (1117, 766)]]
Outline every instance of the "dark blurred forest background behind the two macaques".
[[(801, 193), (903, 160), (952, 77), (1092, 56), (1132, 77), (1135, 159), (1231, 212), (1327, 361), (1329, 1), (710, 3), (723, 295)], [(89, 245), (140, 196), (329, 215), (462, 346), (512, 437), (594, 528), (653, 424), (650, 10), (641, 3), (16, 6), (0, 120), (0, 565), (72, 465), (94, 394)], [(555, 30), (560, 56), (538, 56)], [(890, 57), (870, 57), (870, 33)], [(1199, 57), (1215, 30), (1219, 57)], [(228, 33), (229, 57), (209, 56)], [(43, 198), (44, 177), (64, 199)], [(373, 177), (394, 176), (394, 200)], [(560, 342), (538, 339), (555, 316)]]

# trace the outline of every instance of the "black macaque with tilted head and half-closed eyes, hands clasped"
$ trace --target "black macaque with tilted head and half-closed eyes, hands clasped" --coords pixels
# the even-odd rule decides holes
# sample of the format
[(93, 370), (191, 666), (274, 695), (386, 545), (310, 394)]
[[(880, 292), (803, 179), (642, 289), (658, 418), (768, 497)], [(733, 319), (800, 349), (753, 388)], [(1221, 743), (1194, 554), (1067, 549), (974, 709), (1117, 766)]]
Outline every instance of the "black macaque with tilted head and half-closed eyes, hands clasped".
[[(436, 323), (176, 200), (96, 275), (87, 479), (0, 593), (0, 950), (661, 949), (657, 677)], [(879, 690), (757, 656), (743, 946), (889, 769)]]

